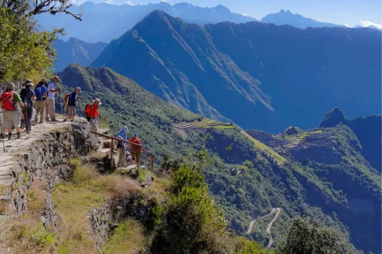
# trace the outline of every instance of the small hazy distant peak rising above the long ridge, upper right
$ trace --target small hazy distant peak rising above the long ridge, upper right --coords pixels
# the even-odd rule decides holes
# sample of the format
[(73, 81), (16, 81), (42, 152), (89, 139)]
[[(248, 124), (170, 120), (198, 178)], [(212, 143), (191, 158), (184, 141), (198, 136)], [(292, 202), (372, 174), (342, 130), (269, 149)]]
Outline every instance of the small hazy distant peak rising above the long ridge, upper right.
[(320, 22), (311, 18), (306, 18), (300, 14), (293, 14), (290, 11), (281, 10), (278, 13), (271, 13), (261, 19), (261, 22), (276, 25), (292, 25), (298, 28), (307, 27), (345, 27), (344, 25)]

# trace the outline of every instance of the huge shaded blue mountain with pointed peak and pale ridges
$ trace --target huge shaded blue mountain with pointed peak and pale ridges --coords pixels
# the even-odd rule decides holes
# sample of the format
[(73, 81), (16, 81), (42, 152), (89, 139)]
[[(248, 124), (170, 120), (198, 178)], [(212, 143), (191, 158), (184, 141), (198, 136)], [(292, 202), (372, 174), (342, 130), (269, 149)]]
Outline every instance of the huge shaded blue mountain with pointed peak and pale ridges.
[(380, 44), (374, 29), (200, 26), (154, 11), (92, 66), (207, 117), (277, 133), (313, 128), (335, 106), (352, 118), (380, 114)]

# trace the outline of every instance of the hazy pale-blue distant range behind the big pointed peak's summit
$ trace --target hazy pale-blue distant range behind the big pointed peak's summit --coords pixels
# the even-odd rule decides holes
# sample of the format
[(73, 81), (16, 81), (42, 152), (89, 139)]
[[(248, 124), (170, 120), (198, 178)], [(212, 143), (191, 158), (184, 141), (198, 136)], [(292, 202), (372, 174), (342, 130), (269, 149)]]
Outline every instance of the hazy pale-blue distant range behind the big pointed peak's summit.
[(222, 5), (202, 8), (187, 3), (170, 5), (165, 2), (134, 6), (86, 2), (80, 6), (73, 5), (70, 9), (73, 13), (83, 13), (82, 21), (74, 20), (70, 15), (62, 13), (54, 15), (54, 17), (50, 14), (41, 14), (37, 16), (37, 20), (40, 30), (65, 27), (66, 36), (60, 38), (63, 40), (74, 37), (86, 42), (100, 41), (108, 43), (123, 35), (138, 21), (156, 9), (198, 24), (221, 21), (240, 23), (256, 20), (248, 16), (232, 13)]

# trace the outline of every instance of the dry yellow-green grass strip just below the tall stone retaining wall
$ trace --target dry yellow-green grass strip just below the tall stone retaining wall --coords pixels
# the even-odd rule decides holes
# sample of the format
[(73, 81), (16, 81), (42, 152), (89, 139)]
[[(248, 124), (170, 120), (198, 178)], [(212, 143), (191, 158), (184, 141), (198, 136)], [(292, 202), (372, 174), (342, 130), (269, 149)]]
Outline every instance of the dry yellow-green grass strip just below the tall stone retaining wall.
[(94, 166), (83, 166), (78, 160), (73, 179), (54, 188), (52, 200), (56, 212), (63, 218), (58, 241), (60, 253), (94, 253), (89, 210), (99, 207), (107, 200), (120, 199), (140, 186), (119, 175), (100, 175)]

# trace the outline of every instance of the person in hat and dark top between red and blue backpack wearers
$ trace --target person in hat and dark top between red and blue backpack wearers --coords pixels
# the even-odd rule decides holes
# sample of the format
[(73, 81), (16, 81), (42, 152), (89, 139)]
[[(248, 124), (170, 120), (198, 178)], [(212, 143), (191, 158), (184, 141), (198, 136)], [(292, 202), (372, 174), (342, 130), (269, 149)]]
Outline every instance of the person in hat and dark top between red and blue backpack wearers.
[(22, 108), (22, 114), (25, 120), (25, 131), (29, 134), (32, 130), (32, 113), (33, 113), (33, 102), (36, 100), (35, 91), (31, 89), (33, 83), (31, 80), (26, 80), (22, 84), (24, 88), (20, 91), (20, 97), (25, 107)]

